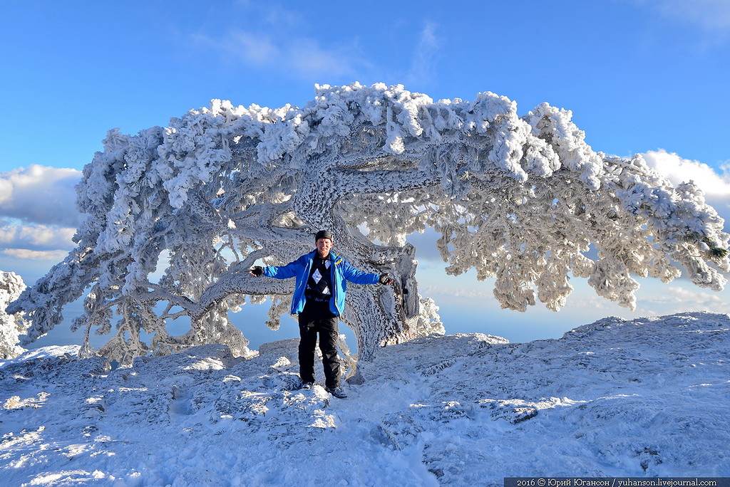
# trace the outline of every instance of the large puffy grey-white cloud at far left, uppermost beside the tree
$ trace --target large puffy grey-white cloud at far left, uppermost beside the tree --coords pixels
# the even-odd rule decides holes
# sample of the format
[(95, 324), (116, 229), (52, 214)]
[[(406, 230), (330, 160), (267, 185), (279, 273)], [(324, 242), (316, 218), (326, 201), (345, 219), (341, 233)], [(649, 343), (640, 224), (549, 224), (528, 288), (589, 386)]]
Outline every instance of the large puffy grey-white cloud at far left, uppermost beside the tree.
[(77, 227), (74, 186), (81, 171), (31, 165), (0, 173), (0, 217), (42, 225)]

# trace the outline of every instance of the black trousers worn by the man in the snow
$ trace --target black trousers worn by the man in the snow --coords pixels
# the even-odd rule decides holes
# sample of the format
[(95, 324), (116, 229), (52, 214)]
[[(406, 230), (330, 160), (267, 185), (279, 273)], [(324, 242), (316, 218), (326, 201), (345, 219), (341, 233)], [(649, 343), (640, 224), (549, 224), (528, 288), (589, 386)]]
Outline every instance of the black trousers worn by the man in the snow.
[(337, 316), (329, 311), (328, 302), (307, 300), (299, 313), (299, 377), (303, 382), (315, 381), (315, 348), (320, 339), (325, 385), (339, 387), (340, 365), (337, 359)]

